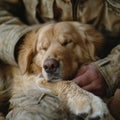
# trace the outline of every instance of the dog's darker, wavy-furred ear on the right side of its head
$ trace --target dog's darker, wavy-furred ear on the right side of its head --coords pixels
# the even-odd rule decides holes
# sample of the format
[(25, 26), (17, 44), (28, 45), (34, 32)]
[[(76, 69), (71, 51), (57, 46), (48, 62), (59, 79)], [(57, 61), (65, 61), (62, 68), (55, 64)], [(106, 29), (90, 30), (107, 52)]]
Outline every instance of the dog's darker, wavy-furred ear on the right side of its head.
[(76, 23), (76, 28), (79, 34), (79, 44), (82, 45), (84, 56), (91, 61), (95, 61), (100, 50), (103, 48), (104, 37), (94, 27), (86, 24)]

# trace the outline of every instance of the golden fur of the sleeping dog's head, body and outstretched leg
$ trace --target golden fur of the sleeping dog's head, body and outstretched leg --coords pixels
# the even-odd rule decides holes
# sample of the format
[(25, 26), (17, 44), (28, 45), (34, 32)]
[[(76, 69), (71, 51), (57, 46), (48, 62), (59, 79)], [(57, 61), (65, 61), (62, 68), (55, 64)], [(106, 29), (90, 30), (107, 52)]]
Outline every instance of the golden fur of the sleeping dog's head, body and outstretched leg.
[[(70, 81), (61, 81), (71, 80), (81, 65), (98, 59), (103, 41), (102, 35), (94, 28), (77, 22), (50, 23), (28, 33), (18, 52), (19, 67), (0, 64), (0, 103), (6, 98), (19, 96), (37, 84), (59, 95), (74, 114), (79, 115), (90, 107), (88, 118), (99, 116), (105, 119), (104, 114), (109, 112), (100, 98)], [(46, 60), (51, 64), (53, 59), (59, 65), (55, 73), (48, 75), (44, 64)], [(39, 81), (38, 75), (52, 82)]]

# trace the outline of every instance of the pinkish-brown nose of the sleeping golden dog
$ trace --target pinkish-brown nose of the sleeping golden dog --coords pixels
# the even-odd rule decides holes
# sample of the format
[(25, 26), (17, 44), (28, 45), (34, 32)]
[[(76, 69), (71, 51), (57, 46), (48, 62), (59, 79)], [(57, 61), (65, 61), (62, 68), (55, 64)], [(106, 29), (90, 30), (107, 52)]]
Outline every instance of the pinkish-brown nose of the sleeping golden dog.
[(46, 59), (43, 68), (47, 73), (53, 74), (59, 68), (59, 61), (53, 58)]

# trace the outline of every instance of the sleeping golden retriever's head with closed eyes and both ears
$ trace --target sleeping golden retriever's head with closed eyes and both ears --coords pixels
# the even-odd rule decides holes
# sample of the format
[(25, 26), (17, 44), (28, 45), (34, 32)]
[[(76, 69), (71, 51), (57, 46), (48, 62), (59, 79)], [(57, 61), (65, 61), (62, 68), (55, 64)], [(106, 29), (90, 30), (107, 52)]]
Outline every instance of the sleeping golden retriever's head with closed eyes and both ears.
[(18, 64), (22, 73), (42, 73), (46, 80), (72, 79), (82, 64), (96, 60), (103, 40), (89, 25), (50, 23), (26, 37)]

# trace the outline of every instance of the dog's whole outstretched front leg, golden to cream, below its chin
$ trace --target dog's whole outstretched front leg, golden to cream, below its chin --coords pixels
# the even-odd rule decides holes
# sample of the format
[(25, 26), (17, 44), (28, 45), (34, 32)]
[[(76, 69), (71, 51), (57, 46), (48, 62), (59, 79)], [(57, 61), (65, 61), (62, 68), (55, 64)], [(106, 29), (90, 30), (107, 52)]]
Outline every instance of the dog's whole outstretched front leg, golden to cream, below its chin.
[(57, 94), (66, 102), (70, 111), (85, 120), (112, 120), (106, 104), (97, 96), (89, 93), (71, 81), (47, 82), (42, 80), (44, 86)]

